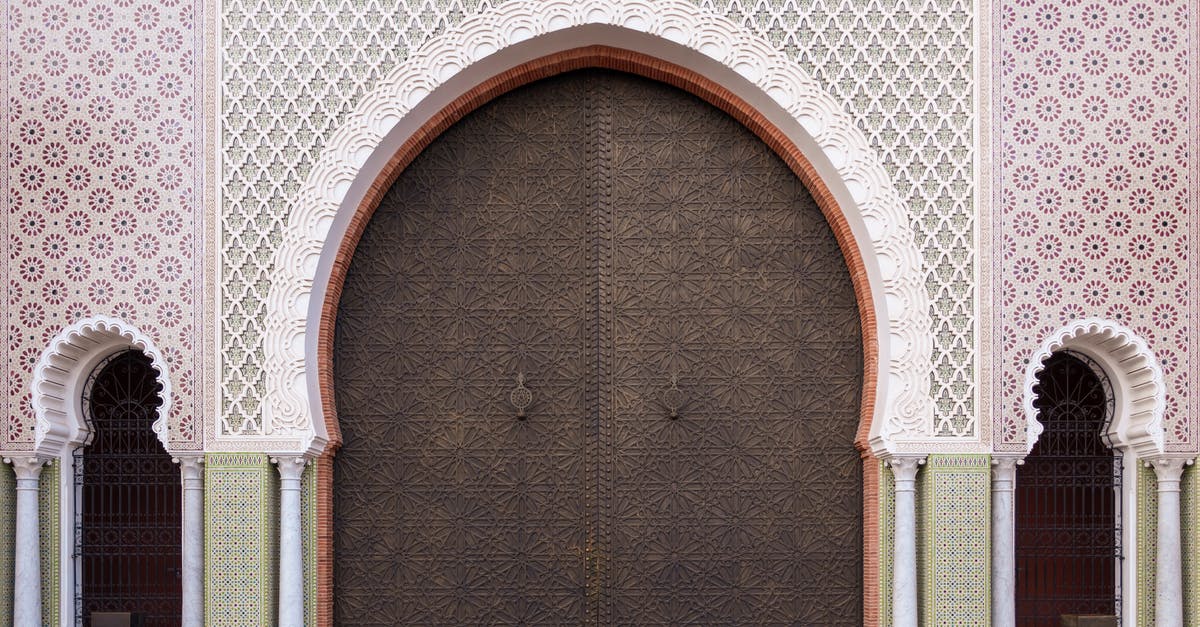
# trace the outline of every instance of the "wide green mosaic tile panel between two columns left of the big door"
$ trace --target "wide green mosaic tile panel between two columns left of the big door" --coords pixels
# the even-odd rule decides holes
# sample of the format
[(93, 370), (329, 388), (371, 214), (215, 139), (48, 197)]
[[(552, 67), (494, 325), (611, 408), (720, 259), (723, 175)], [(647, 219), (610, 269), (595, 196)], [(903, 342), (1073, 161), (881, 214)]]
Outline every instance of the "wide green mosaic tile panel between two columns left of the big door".
[(278, 473), (259, 453), (204, 461), (205, 625), (275, 622)]

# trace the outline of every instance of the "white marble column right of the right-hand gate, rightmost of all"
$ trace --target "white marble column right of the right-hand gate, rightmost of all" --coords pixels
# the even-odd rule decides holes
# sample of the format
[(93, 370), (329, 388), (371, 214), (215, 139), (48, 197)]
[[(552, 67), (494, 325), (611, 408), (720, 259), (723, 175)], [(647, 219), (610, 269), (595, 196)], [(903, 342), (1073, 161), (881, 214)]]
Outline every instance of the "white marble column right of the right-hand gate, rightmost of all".
[(1151, 462), (1158, 477), (1158, 565), (1154, 573), (1154, 625), (1183, 625), (1183, 549), (1180, 544), (1180, 478), (1190, 459)]

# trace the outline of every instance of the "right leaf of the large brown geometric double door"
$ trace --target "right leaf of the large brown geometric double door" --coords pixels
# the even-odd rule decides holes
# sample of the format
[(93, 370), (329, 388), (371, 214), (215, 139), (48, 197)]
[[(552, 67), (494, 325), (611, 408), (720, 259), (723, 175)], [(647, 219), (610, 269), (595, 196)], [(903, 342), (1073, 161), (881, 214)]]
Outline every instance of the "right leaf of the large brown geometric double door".
[(650, 80), (605, 94), (605, 622), (860, 625), (862, 339), (829, 225), (728, 115)]

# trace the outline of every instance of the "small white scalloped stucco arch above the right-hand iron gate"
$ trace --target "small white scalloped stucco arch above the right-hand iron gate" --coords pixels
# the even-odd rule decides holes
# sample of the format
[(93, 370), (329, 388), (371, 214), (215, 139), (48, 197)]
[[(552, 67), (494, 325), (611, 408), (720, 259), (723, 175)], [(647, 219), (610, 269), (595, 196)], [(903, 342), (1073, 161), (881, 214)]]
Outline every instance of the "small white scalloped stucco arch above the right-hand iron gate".
[(1056, 351), (1076, 351), (1096, 360), (1112, 384), (1114, 413), (1105, 436), (1115, 448), (1139, 458), (1160, 454), (1165, 447), (1163, 414), (1166, 386), (1154, 353), (1134, 332), (1111, 321), (1086, 318), (1050, 334), (1025, 369), (1025, 443), (1033, 450), (1043, 425), (1033, 406), (1038, 372)]

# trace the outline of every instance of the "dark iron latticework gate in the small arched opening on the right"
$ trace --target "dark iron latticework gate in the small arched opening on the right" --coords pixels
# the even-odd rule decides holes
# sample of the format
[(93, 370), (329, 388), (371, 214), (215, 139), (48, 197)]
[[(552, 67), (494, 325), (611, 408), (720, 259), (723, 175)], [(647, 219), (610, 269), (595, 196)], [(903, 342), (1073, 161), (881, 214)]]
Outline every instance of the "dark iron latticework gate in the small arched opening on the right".
[(1087, 357), (1058, 352), (1038, 377), (1045, 431), (1016, 476), (1016, 616), (1118, 615), (1121, 456), (1104, 431), (1112, 392)]

